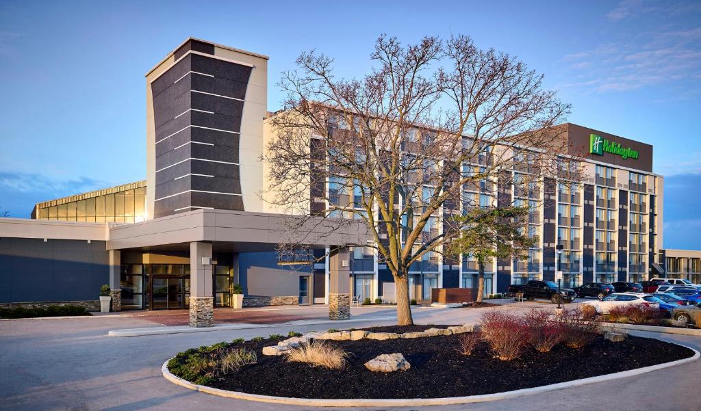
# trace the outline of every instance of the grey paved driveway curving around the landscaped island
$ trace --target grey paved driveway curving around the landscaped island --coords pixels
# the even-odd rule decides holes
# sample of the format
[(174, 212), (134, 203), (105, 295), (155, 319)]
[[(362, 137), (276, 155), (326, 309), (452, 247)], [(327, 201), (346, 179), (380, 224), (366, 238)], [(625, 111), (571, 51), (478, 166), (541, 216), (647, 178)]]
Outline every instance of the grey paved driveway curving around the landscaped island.
[[(373, 321), (372, 318), (385, 317), (392, 312), (392, 309), (353, 309), (353, 315), (367, 318), (367, 323), (353, 323), (352, 326), (389, 324), (391, 321)], [(417, 323), (463, 323), (474, 321), (479, 311), (416, 309), (414, 315)], [(112, 329), (153, 325), (130, 317), (0, 321), (0, 410), (308, 409), (231, 400), (182, 389), (163, 379), (161, 364), (189, 347), (238, 337), (287, 333), (291, 329), (304, 332), (332, 327), (329, 324), (272, 326), (207, 333), (107, 337), (107, 331)], [(670, 335), (665, 339), (701, 349), (701, 338), (698, 337)], [(697, 397), (700, 380), (701, 361), (695, 361), (639, 377), (538, 396), (475, 405), (423, 407), (421, 410), (700, 410)]]

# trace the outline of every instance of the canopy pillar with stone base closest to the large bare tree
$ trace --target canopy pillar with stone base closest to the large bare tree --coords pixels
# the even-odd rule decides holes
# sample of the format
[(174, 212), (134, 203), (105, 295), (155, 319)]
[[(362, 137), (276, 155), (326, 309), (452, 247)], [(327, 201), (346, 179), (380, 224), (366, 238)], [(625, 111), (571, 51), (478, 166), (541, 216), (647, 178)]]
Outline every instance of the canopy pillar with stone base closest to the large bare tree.
[(329, 319), (351, 318), (351, 264), (348, 248), (332, 249), (329, 256)]

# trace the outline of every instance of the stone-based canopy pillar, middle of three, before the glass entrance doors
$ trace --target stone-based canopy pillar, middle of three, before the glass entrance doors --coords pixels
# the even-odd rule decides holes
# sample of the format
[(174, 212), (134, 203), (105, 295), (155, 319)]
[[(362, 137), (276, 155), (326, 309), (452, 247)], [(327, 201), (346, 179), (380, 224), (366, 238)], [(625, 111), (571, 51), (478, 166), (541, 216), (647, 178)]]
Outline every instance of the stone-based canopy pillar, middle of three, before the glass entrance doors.
[(212, 244), (190, 243), (190, 326), (214, 325)]

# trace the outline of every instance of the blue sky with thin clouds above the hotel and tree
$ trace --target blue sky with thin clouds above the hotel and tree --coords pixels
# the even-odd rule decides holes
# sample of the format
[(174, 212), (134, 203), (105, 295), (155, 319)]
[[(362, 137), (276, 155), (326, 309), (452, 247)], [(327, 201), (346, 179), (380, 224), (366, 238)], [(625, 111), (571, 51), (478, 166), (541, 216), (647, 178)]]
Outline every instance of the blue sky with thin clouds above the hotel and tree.
[(1, 210), (144, 179), (144, 74), (188, 36), (269, 55), (273, 111), (301, 51), (357, 76), (381, 33), (468, 34), (545, 74), (571, 122), (653, 144), (664, 245), (701, 249), (698, 1), (0, 1)]

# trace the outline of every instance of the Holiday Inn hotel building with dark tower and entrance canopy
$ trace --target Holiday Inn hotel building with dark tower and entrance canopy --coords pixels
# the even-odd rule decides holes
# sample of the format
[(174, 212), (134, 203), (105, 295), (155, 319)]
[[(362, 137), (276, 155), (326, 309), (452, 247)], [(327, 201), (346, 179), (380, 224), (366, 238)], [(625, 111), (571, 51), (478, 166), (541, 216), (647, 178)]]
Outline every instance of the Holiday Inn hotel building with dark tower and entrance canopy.
[[(284, 228), (294, 216), (259, 195), (266, 188), (259, 158), (274, 116), (267, 62), (188, 39), (156, 64), (146, 75), (146, 179), (40, 202), (32, 218), (0, 219), (0, 304), (96, 307), (100, 285), (109, 284), (114, 309), (190, 307), (191, 323), (207, 325), (212, 306), (231, 304), (233, 284), (242, 286), (245, 305), (326, 303), (339, 318), (346, 313), (337, 307), (351, 296), (388, 299), (393, 278), (374, 250), (338, 248), (368, 244), (360, 223), (331, 236), (305, 235), (320, 260), (278, 264), (275, 247), (294, 237)], [(492, 261), (485, 293), (529, 279), (577, 286), (665, 275), (664, 183), (653, 173), (653, 147), (558, 127), (571, 148), (562, 154), (581, 155), (582, 181), (552, 176), (521, 186), (528, 169), (515, 165), (508, 184), (463, 189), (463, 202), (529, 206), (529, 232), (539, 239), (527, 260)], [(352, 197), (334, 181), (323, 189), (328, 199)], [(310, 204), (318, 207), (314, 198)], [(416, 300), (428, 300), (431, 288), (475, 288), (477, 265), (427, 253), (412, 265), (409, 284)]]

